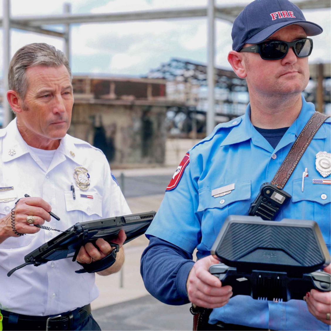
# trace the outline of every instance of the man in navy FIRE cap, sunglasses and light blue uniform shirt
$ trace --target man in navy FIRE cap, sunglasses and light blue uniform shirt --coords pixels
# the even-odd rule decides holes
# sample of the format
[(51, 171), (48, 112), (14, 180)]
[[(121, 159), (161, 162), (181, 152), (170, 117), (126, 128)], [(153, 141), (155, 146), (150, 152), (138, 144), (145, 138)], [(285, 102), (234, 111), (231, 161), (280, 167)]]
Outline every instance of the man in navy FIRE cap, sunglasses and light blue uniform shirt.
[[(209, 323), (221, 321), (224, 330), (330, 330), (331, 293), (311, 290), (305, 301), (279, 303), (231, 298), (232, 288), (208, 272), (218, 263), (210, 250), (225, 218), (248, 214), (261, 184), (271, 181), (315, 111), (301, 93), (309, 80), (312, 40), (307, 36), (321, 32), (287, 0), (256, 0), (239, 14), (228, 61), (247, 80), (246, 114), (217, 125), (189, 150), (146, 233), (150, 244), (142, 256), (141, 274), (147, 290), (167, 304), (213, 308)], [(322, 178), (315, 156), (323, 151), (331, 152), (330, 118), (284, 187), (292, 200), (276, 220), (315, 220), (331, 248), (331, 187), (312, 182)], [(302, 191), (305, 168), (309, 177)], [(230, 184), (235, 188), (229, 194), (212, 196), (213, 189)], [(192, 260), (195, 248), (197, 262)]]

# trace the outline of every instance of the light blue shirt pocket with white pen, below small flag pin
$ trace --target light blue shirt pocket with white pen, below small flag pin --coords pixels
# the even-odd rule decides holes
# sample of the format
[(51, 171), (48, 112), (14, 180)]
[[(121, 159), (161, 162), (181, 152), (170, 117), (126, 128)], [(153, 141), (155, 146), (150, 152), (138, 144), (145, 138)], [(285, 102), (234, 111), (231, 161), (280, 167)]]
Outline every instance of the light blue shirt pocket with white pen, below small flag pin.
[(304, 192), (301, 186), (302, 178), (293, 180), (294, 217), (317, 222), (325, 243), (330, 244), (331, 185), (313, 184), (312, 178), (306, 177)]

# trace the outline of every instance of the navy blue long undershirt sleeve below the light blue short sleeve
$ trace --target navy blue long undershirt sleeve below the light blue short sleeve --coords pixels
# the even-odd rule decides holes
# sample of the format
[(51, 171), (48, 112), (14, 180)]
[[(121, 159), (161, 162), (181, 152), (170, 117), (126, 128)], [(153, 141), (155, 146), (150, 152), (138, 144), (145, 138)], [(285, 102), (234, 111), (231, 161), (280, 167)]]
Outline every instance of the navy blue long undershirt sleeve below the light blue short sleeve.
[(168, 305), (184, 305), (189, 303), (186, 281), (193, 264), (192, 254), (150, 236), (141, 257), (140, 273), (153, 297)]

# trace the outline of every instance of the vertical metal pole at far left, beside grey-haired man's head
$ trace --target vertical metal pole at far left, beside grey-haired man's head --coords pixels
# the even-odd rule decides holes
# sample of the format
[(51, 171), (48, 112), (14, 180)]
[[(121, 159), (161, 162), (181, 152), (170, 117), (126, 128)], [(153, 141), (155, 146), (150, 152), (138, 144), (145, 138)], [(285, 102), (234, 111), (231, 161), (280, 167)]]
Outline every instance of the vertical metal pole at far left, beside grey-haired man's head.
[(10, 0), (3, 0), (3, 124), (2, 127), (6, 127), (8, 123), (12, 120), (13, 115), (9, 109), (9, 104), (7, 101), (7, 91), (8, 91), (8, 68), (10, 60)]

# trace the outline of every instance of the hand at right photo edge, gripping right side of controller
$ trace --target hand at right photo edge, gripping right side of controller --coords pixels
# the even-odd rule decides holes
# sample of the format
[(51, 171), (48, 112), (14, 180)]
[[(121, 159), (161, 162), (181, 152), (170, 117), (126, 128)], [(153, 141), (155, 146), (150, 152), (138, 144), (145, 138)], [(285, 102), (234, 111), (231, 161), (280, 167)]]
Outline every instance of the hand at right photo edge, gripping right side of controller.
[[(331, 264), (324, 268), (324, 271), (331, 273)], [(331, 313), (331, 292), (311, 290), (304, 300), (311, 314), (323, 323), (331, 325), (331, 319), (326, 319), (326, 314)]]

